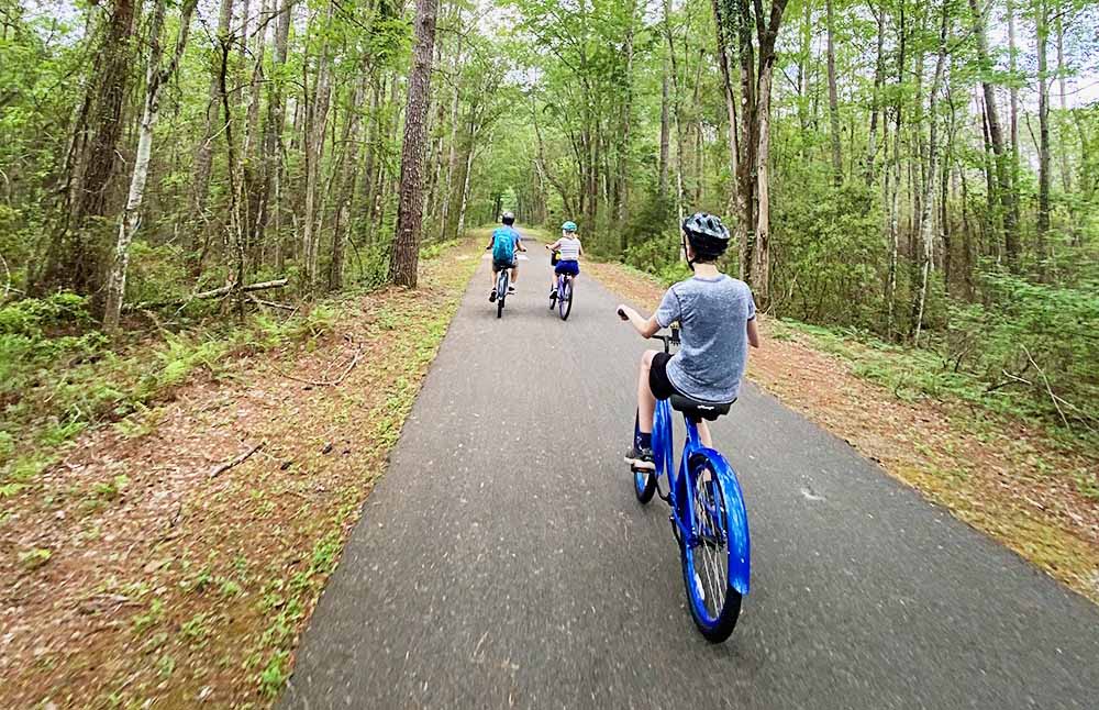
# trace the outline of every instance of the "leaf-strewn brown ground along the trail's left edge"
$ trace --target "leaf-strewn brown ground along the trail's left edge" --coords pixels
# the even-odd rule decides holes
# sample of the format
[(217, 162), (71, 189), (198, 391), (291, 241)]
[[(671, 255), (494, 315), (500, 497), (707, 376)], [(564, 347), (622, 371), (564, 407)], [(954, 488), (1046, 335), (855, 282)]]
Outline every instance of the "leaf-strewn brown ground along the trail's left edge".
[(268, 706), (475, 248), (436, 248), (420, 289), (329, 303), (330, 332), (85, 431), (0, 499), (0, 707)]

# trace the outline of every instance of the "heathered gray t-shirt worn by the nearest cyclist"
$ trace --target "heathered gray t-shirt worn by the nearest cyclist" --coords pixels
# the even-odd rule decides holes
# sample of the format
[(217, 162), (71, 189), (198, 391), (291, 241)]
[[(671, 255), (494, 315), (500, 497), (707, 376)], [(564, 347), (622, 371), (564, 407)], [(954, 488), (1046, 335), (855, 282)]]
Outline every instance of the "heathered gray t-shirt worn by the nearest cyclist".
[(684, 395), (704, 402), (731, 402), (740, 395), (748, 359), (747, 322), (755, 318), (752, 289), (722, 274), (674, 284), (656, 310), (656, 322), (679, 321), (682, 344), (668, 360), (668, 379)]

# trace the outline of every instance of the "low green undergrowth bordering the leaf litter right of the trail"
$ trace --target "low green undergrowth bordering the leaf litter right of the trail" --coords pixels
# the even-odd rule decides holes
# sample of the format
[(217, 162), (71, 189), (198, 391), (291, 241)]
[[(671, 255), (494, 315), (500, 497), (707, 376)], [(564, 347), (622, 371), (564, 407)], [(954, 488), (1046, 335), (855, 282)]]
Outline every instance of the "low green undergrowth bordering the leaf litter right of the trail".
[[(933, 348), (913, 348), (881, 341), (865, 331), (824, 328), (788, 319), (771, 319), (769, 325), (769, 337), (793, 340), (800, 336), (813, 350), (840, 357), (851, 366), (852, 374), (880, 385), (902, 401), (961, 404), (964, 409), (952, 417), (952, 422), (978, 439), (990, 437), (1003, 431), (1004, 424), (1015, 422), (1041, 433), (1055, 450), (1084, 455), (1099, 451), (1099, 435), (1095, 431), (1083, 425), (1065, 426), (1032, 397), (996, 387)], [(1032, 461), (1039, 468), (1056, 469), (1041, 456)], [(1075, 472), (1074, 482), (1081, 495), (1099, 500), (1099, 478), (1094, 470)]]

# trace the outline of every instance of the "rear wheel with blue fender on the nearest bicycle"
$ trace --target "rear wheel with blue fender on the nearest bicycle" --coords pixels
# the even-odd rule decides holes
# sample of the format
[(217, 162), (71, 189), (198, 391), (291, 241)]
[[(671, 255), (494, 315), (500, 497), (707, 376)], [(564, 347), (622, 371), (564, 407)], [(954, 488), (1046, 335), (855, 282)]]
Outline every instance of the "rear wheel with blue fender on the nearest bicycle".
[(707, 454), (691, 456), (687, 468), (691, 539), (682, 541), (684, 585), (695, 625), (707, 641), (721, 643), (741, 613), (743, 597), (732, 579), (745, 562), (739, 555), (746, 554), (746, 521), (740, 495), (726, 490)]

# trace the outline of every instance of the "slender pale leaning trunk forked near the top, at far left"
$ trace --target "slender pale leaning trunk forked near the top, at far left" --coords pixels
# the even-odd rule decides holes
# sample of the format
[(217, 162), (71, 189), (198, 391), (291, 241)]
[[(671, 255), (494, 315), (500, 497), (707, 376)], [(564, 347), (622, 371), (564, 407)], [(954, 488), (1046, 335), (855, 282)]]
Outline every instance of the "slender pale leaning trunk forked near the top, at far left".
[(130, 244), (141, 217), (141, 206), (145, 197), (145, 185), (148, 180), (148, 164), (153, 155), (153, 130), (160, 113), (160, 89), (176, 73), (179, 59), (187, 46), (187, 35), (191, 29), (191, 13), (195, 12), (197, 0), (187, 0), (179, 16), (179, 34), (176, 49), (166, 67), (160, 66), (160, 32), (164, 29), (166, 0), (156, 0), (153, 5), (153, 18), (149, 25), (148, 68), (145, 73), (145, 106), (142, 110), (141, 132), (137, 138), (137, 153), (134, 156), (133, 176), (130, 178), (130, 193), (125, 210), (119, 220), (119, 238), (114, 246), (114, 262), (111, 265), (107, 280), (107, 308), (103, 313), (103, 330), (113, 333), (119, 328), (122, 315), (122, 301), (126, 291), (126, 269), (130, 266)]

